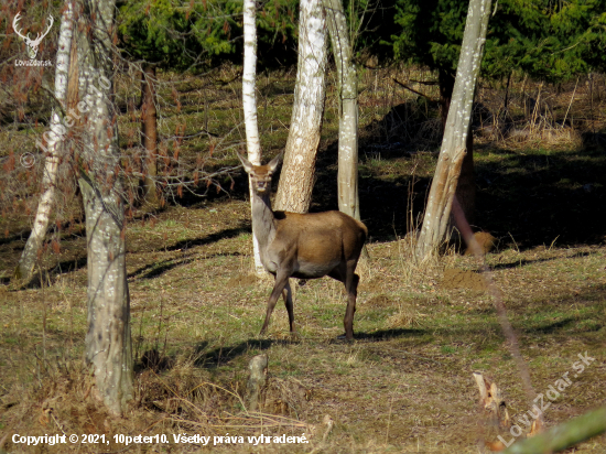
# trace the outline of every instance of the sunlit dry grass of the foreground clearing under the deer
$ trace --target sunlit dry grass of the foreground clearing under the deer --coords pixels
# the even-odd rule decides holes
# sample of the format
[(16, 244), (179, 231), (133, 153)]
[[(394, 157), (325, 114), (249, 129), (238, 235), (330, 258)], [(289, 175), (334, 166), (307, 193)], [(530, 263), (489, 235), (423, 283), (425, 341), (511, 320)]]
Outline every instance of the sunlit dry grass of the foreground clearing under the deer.
[[(329, 280), (297, 287), (297, 338), (286, 334), (283, 307), (272, 317), (269, 337), (258, 338), (271, 284), (242, 278), (250, 237), (198, 241), (187, 255), (171, 247), (183, 235), (213, 234), (193, 234), (185, 223), (170, 219), (187, 216), (190, 226), (212, 226), (212, 209), (175, 208), (161, 214), (153, 228), (131, 229), (129, 273), (139, 366), (136, 399), (121, 420), (109, 418), (93, 399), (82, 369), (86, 270), (62, 274), (51, 288), (4, 289), (2, 434), (229, 433), (246, 440), (261, 433), (305, 433), (310, 444), (294, 447), (245, 443), (172, 448), (475, 453), (481, 431), (473, 370), (499, 382), (511, 414), (529, 408), (490, 298), (441, 284), (445, 268), (474, 270), (473, 258), (450, 255), (426, 268), (407, 267), (405, 238), (371, 244), (371, 259), (359, 270), (354, 344), (334, 340), (342, 333), (345, 295), (342, 285)], [(248, 208), (232, 201), (223, 209), (224, 215), (240, 216)], [(166, 245), (144, 241), (154, 233), (166, 233)], [(545, 412), (548, 425), (606, 398), (600, 386), (606, 371), (605, 255), (603, 247), (552, 247), (505, 249), (488, 258), (537, 392), (570, 370), (578, 353), (596, 358)], [(247, 413), (247, 363), (261, 352), (270, 358), (268, 398), (261, 413)], [(602, 452), (605, 442), (585, 443), (576, 452)], [(123, 447), (110, 443), (104, 450)], [(36, 452), (10, 440), (4, 448)], [(97, 452), (94, 446), (79, 450)]]

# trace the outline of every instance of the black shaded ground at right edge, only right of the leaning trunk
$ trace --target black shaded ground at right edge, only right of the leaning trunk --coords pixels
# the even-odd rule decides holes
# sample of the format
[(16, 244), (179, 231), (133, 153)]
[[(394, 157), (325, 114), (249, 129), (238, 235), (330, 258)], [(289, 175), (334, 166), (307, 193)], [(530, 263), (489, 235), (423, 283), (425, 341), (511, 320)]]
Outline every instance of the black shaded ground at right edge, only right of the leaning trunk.
[(606, 202), (603, 152), (500, 152), (498, 159), (476, 164), (484, 228), (512, 236), (522, 248), (604, 241), (596, 221), (596, 209)]

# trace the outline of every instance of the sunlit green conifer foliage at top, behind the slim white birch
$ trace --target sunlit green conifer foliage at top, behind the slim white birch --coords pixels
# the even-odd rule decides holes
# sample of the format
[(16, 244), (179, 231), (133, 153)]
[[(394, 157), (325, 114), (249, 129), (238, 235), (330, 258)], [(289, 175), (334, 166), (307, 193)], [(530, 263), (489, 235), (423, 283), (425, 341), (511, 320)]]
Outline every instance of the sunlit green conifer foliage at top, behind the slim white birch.
[[(136, 0), (118, 14), (120, 48), (131, 60), (174, 71), (207, 68), (225, 61), (241, 63), (241, 0)], [(296, 61), (299, 3), (270, 0), (257, 14), (259, 64)]]

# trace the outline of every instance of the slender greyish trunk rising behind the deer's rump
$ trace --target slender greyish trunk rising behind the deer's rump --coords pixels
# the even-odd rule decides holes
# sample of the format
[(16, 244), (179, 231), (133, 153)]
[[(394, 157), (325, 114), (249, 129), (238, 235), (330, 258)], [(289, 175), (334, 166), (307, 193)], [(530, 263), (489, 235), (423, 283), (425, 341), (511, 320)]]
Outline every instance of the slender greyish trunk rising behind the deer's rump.
[(324, 8), (337, 67), (339, 94), (338, 209), (359, 220), (357, 73), (342, 0), (324, 0)]

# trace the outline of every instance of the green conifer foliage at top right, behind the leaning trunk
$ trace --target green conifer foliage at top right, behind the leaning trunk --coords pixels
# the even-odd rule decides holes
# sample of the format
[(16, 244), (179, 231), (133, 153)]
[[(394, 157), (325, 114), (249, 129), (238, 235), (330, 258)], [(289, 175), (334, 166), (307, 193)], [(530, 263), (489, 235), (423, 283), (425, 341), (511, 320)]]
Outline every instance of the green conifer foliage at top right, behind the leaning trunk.
[[(467, 14), (462, 0), (396, 0), (393, 57), (432, 69), (456, 68)], [(521, 71), (563, 82), (605, 67), (605, 0), (499, 0), (490, 18), (483, 75)]]

